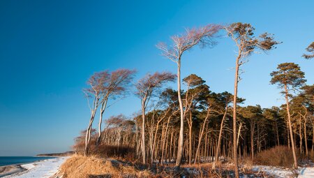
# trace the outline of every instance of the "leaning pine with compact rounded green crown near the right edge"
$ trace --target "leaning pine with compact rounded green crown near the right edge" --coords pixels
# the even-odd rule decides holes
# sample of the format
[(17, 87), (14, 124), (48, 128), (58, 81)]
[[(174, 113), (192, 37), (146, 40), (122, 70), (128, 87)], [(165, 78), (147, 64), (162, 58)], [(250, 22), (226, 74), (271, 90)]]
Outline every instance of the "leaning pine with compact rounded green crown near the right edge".
[(282, 89), (281, 93), (285, 96), (285, 104), (287, 110), (287, 124), (290, 132), (290, 140), (292, 147), (292, 154), (294, 160), (294, 168), (297, 169), (297, 155), (295, 151), (294, 136), (291, 126), (291, 114), (290, 114), (290, 102), (289, 98), (292, 97), (291, 91), (296, 91), (299, 87), (302, 87), (306, 80), (304, 79), (304, 72), (300, 71), (300, 67), (294, 63), (283, 63), (277, 67), (278, 71), (272, 72), (271, 84), (278, 84), (278, 87)]

